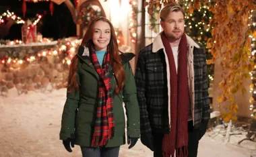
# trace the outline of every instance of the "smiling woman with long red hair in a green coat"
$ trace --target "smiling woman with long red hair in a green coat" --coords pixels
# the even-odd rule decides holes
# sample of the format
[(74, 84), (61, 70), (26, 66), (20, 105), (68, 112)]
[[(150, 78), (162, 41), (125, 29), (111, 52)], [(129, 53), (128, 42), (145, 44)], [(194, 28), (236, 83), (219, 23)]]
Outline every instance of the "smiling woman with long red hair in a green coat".
[(113, 25), (96, 17), (71, 62), (67, 100), (60, 139), (67, 151), (81, 146), (83, 157), (117, 157), (127, 141), (132, 148), (139, 138), (139, 106), (129, 60), (134, 54), (118, 50)]

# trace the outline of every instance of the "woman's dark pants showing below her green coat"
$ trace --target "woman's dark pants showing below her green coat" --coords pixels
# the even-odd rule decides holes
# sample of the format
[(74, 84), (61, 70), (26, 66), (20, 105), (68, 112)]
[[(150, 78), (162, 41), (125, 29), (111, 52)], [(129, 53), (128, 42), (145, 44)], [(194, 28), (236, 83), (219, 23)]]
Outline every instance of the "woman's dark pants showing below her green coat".
[(100, 147), (100, 148), (90, 148), (81, 147), (83, 157), (118, 157), (119, 147)]

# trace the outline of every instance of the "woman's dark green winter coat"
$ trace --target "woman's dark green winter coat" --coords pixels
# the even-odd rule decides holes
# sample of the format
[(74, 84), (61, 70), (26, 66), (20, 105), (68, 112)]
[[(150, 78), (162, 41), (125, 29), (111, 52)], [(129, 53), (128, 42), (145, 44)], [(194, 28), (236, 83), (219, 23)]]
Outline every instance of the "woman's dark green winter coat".
[[(84, 48), (80, 47), (77, 68), (77, 81), (80, 83), (79, 91), (67, 93), (61, 120), (60, 139), (75, 138), (75, 144), (88, 146), (92, 144), (94, 121), (98, 99), (98, 73), (89, 56), (82, 56)], [(126, 74), (125, 86), (119, 95), (113, 94), (113, 113), (115, 117), (115, 136), (108, 140), (106, 147), (116, 147), (125, 144), (125, 103), (127, 115), (127, 136), (139, 138), (139, 106), (137, 103), (135, 80), (129, 64), (134, 54), (121, 54), (123, 68)], [(110, 70), (110, 83), (113, 89), (117, 85), (115, 75)]]

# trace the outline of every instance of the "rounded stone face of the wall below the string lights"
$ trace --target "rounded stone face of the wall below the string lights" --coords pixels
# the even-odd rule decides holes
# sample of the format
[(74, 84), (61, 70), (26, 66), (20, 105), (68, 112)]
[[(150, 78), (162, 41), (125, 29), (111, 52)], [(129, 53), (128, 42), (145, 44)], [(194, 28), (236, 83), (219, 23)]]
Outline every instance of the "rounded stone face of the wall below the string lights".
[(67, 64), (52, 56), (30, 64), (1, 64), (0, 68), (0, 90), (3, 97), (7, 97), (8, 91), (13, 88), (21, 95), (28, 91), (49, 92), (67, 85)]

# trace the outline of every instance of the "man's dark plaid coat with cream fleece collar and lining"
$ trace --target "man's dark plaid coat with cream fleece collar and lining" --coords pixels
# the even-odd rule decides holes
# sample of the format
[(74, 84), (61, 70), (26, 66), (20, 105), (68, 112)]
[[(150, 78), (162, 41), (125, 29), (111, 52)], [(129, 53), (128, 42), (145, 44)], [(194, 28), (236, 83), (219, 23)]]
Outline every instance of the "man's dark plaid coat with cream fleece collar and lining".
[[(170, 131), (168, 58), (160, 34), (139, 51), (135, 82), (140, 109), (141, 134)], [(210, 119), (205, 51), (187, 36), (187, 69), (190, 109), (195, 129), (205, 128)], [(178, 104), (179, 105), (179, 104)]]

